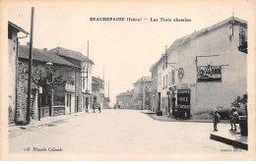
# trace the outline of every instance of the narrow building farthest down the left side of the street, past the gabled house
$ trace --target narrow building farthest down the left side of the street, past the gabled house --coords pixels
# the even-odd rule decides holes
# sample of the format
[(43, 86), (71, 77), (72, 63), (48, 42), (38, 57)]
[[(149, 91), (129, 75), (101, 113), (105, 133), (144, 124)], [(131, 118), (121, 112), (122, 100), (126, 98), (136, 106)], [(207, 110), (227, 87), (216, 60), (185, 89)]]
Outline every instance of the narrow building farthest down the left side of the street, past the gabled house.
[(104, 81), (93, 77), (93, 95), (94, 95), (94, 104), (96, 106), (100, 105), (103, 108), (104, 103)]

